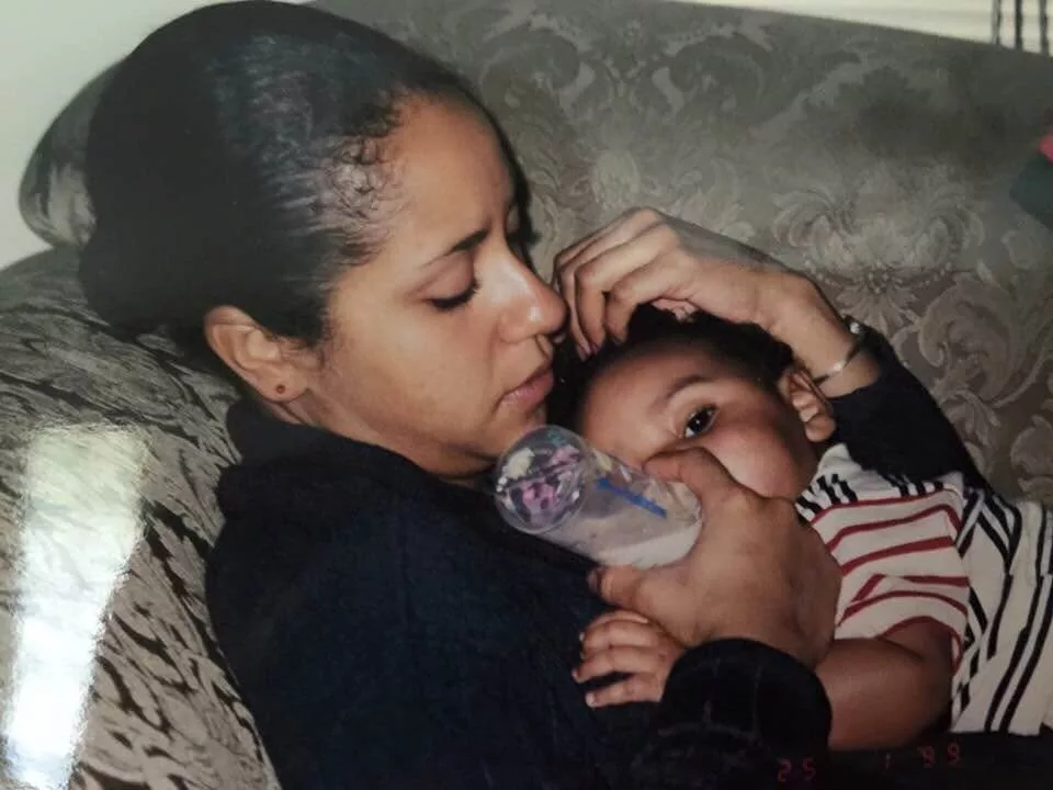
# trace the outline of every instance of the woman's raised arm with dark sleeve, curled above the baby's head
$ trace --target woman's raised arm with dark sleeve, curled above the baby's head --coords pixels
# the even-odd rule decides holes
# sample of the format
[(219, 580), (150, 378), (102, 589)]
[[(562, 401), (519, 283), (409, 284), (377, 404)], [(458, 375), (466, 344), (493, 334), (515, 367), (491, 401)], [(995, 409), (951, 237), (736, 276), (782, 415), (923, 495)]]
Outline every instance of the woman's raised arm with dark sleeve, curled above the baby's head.
[[(702, 309), (757, 324), (815, 376), (846, 359), (854, 336), (807, 278), (762, 252), (652, 210), (630, 212), (556, 257), (555, 278), (582, 351), (621, 337), (637, 305)], [(951, 471), (985, 485), (931, 395), (868, 332), (861, 351), (822, 385), (840, 440), (863, 466), (931, 478)]]

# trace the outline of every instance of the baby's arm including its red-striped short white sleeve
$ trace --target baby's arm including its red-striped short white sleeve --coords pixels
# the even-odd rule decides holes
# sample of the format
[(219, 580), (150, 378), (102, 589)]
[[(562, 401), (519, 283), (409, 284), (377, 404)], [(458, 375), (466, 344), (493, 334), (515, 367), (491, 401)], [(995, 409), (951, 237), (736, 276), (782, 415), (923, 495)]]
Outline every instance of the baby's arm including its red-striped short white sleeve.
[(835, 749), (902, 746), (949, 708), (966, 627), (969, 577), (955, 540), (956, 477), (891, 481), (834, 448), (802, 496), (841, 567), (836, 639), (816, 674), (830, 699)]

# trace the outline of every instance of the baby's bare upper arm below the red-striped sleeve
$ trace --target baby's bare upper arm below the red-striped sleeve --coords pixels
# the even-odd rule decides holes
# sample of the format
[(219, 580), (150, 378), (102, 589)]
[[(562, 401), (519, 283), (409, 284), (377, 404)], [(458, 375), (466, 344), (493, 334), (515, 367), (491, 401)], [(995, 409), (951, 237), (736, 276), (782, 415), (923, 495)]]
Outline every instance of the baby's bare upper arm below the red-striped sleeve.
[(951, 699), (951, 635), (915, 622), (878, 639), (834, 642), (816, 674), (830, 699), (834, 749), (903, 746)]

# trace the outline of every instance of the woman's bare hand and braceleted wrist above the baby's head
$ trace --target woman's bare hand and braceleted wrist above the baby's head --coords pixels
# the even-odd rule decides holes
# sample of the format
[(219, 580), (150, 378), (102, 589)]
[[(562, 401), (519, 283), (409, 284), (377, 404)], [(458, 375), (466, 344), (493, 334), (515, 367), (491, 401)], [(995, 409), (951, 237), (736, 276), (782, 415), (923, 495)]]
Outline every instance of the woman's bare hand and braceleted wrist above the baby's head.
[[(757, 324), (789, 345), (813, 375), (842, 360), (854, 342), (807, 278), (747, 245), (649, 208), (623, 214), (565, 249), (554, 274), (582, 354), (609, 335), (622, 338), (644, 303)], [(842, 395), (878, 373), (873, 359), (860, 353), (823, 391)]]

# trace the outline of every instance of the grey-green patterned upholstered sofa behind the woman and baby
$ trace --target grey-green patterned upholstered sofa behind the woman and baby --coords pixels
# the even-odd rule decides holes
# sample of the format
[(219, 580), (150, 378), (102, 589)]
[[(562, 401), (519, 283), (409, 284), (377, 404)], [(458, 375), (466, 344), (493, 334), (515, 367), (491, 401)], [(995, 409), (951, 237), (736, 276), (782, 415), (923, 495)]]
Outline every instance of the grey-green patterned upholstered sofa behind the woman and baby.
[[(1010, 198), (1053, 59), (654, 0), (317, 4), (475, 81), (543, 268), (634, 205), (761, 248), (890, 337), (998, 488), (1053, 504), (1053, 232)], [(0, 786), (276, 788), (203, 599), (235, 394), (76, 276), (104, 81), (26, 170), (53, 248), (0, 271)]]

